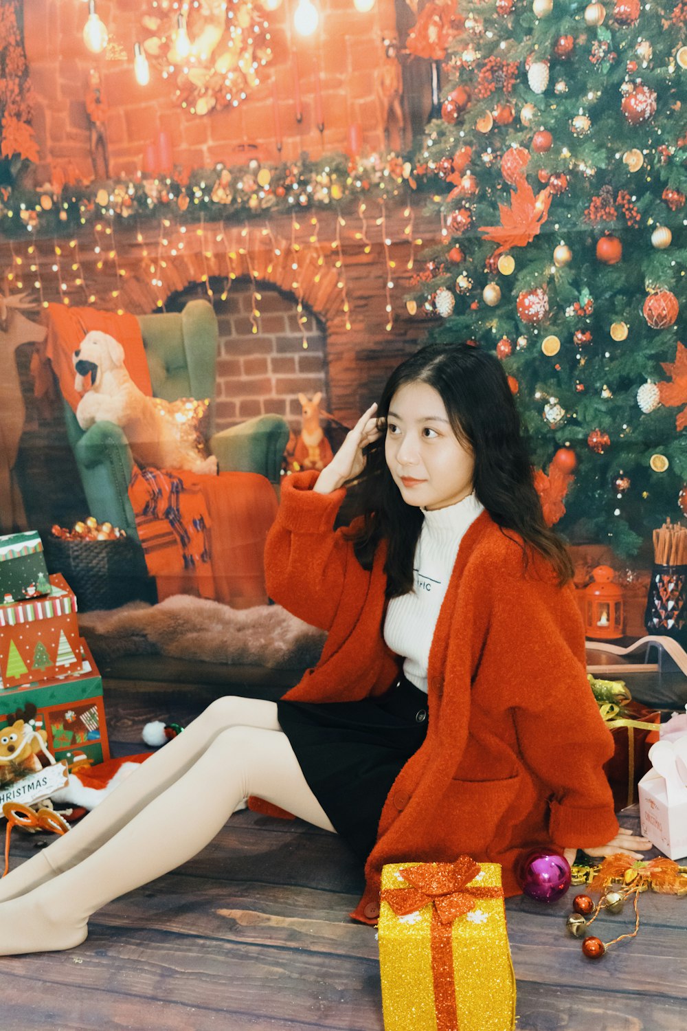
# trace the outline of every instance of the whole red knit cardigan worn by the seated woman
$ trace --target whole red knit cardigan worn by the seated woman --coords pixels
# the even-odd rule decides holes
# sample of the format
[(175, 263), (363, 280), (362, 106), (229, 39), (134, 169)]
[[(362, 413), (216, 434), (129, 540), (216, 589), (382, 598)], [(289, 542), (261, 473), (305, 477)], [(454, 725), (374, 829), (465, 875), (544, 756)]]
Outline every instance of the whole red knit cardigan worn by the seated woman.
[[(345, 492), (317, 494), (316, 478), (283, 481), (265, 553), (270, 597), (329, 631), (319, 662), (285, 697), (354, 701), (382, 694), (399, 672), (382, 636), (385, 548), (363, 569), (334, 531)], [(536, 555), (523, 570), (520, 546), (482, 512), (460, 541), (432, 641), (426, 738), (384, 803), (354, 919), (376, 922), (384, 863), (465, 853), (501, 863), (505, 893), (515, 895), (528, 849), (614, 837), (602, 768), (613, 740), (584, 656), (572, 586), (558, 587)]]

